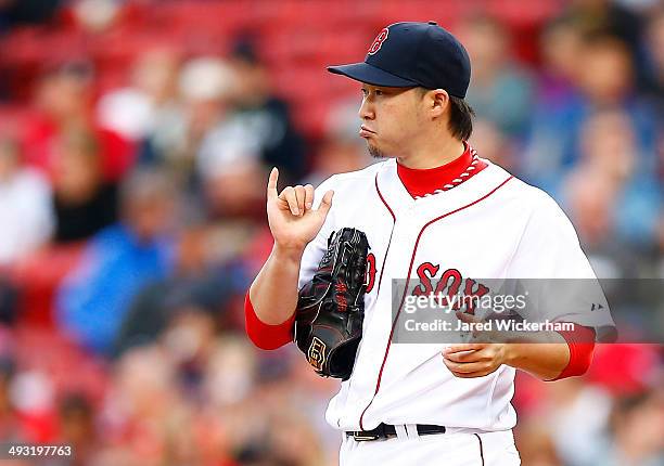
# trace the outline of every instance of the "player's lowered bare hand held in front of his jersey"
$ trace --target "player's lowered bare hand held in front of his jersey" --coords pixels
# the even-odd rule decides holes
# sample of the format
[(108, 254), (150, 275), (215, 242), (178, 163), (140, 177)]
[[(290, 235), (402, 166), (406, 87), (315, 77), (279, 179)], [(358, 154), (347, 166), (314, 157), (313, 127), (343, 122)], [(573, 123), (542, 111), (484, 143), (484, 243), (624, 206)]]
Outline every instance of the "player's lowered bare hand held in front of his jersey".
[[(481, 321), (461, 312), (457, 312), (457, 318), (467, 323)], [(508, 345), (497, 341), (495, 332), (473, 332), (472, 339), (474, 341), (450, 345), (443, 350), (443, 362), (456, 377), (484, 377), (507, 361)]]

